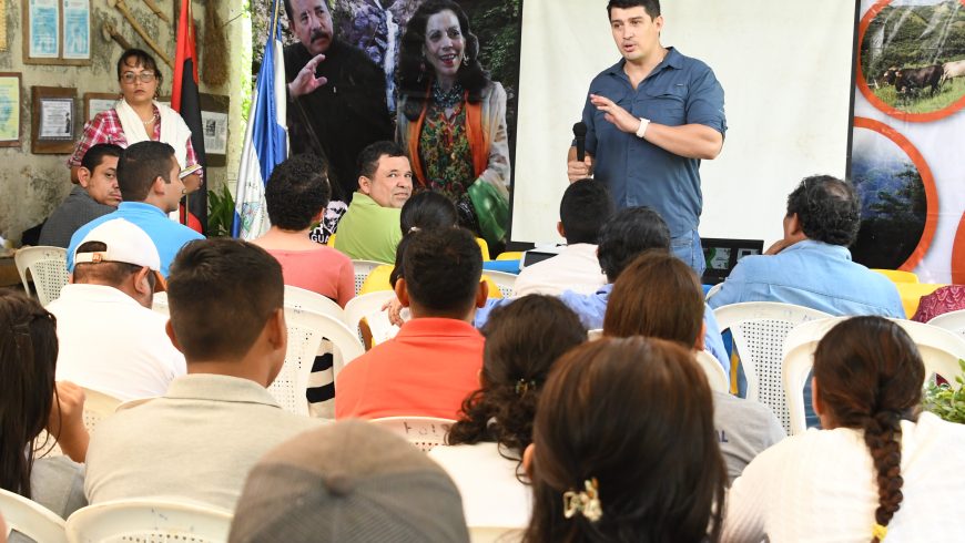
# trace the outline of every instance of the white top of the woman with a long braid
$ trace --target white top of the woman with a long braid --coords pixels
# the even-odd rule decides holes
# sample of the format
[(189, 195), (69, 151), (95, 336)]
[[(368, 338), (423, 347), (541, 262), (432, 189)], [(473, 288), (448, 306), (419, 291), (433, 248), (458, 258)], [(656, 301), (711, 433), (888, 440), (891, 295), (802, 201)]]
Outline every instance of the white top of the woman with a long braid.
[[(923, 413), (902, 422), (901, 509), (887, 542), (962, 541), (965, 426)], [(867, 543), (878, 493), (862, 432), (812, 429), (758, 455), (734, 481), (722, 541)]]

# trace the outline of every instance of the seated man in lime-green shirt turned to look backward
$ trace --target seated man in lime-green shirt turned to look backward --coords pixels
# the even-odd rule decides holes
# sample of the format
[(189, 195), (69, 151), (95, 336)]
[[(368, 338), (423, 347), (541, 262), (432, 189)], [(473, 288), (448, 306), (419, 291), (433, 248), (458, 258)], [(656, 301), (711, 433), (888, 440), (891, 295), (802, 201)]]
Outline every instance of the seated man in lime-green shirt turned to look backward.
[(375, 142), (358, 155), (358, 191), (338, 223), (335, 248), (355, 260), (395, 262), (399, 213), (413, 194), (413, 168), (402, 147)]

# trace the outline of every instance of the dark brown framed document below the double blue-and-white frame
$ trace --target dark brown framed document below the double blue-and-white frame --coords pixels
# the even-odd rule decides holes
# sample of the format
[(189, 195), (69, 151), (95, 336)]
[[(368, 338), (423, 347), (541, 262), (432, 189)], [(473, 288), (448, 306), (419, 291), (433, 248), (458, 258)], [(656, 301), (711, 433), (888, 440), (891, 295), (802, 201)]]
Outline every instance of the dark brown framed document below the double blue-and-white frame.
[(33, 119), (31, 152), (67, 154), (73, 151), (77, 133), (77, 89), (31, 86)]

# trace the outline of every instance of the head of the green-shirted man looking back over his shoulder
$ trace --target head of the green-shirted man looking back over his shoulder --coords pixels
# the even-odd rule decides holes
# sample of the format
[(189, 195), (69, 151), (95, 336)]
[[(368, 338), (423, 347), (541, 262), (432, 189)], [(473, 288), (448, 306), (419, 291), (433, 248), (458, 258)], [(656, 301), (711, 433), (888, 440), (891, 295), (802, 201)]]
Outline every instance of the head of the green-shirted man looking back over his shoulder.
[(358, 155), (358, 191), (383, 207), (400, 208), (413, 194), (413, 168), (395, 142), (375, 142)]

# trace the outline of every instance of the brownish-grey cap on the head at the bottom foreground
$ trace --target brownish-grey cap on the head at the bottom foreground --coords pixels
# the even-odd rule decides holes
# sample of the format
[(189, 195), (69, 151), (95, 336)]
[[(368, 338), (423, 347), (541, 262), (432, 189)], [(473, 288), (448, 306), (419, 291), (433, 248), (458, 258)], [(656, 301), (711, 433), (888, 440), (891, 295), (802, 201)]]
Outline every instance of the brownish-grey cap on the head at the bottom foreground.
[(232, 543), (467, 542), (445, 471), (404, 439), (360, 420), (309, 430), (252, 469)]

